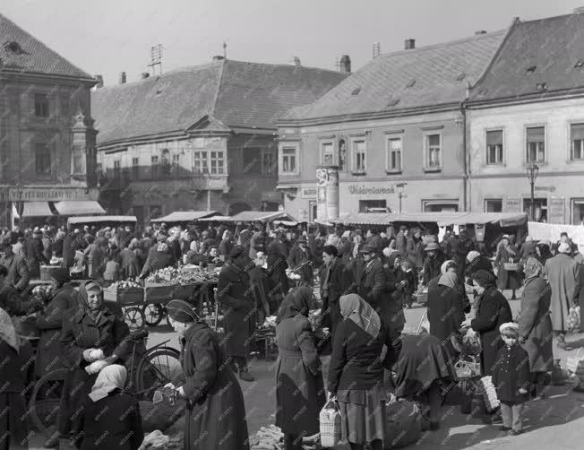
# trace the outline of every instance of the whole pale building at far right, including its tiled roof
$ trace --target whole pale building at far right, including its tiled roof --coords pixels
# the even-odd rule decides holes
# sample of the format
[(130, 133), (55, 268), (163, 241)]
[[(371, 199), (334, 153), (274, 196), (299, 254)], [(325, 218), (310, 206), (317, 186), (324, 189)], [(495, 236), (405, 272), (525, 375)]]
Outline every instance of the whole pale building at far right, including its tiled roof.
[[(469, 204), (584, 221), (584, 14), (515, 22), (468, 101)], [(583, 59), (579, 59), (583, 58)]]

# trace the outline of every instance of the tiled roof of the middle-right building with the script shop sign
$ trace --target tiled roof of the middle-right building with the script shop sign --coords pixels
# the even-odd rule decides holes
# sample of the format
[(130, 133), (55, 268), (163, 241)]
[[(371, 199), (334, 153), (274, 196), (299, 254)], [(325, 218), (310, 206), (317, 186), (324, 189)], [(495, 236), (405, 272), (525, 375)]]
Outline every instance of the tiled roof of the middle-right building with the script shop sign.
[(468, 82), (483, 74), (506, 30), (374, 58), (313, 104), (282, 121), (347, 117), (423, 108), (465, 99)]

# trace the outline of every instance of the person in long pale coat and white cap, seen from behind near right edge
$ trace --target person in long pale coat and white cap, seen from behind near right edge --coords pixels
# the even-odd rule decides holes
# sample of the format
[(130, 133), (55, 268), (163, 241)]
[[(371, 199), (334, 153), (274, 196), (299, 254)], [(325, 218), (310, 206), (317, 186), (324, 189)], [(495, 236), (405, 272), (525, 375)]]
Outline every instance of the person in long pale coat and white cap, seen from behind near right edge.
[(545, 273), (552, 289), (552, 327), (558, 338), (558, 347), (565, 349), (570, 308), (574, 306), (579, 276), (578, 264), (571, 257), (570, 244), (560, 244), (557, 255), (545, 262)]

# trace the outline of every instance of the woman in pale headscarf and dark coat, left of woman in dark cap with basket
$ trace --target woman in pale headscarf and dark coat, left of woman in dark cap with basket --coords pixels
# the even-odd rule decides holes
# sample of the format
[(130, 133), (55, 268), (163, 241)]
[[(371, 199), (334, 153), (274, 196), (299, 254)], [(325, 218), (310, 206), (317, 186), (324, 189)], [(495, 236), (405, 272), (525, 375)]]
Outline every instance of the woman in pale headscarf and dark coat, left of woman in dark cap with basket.
[(452, 358), (457, 351), (451, 338), (459, 335), (460, 324), (464, 320), (464, 306), (458, 292), (458, 277), (456, 273), (447, 272), (441, 275), (438, 284), (428, 289), (428, 322), (430, 334), (436, 336)]

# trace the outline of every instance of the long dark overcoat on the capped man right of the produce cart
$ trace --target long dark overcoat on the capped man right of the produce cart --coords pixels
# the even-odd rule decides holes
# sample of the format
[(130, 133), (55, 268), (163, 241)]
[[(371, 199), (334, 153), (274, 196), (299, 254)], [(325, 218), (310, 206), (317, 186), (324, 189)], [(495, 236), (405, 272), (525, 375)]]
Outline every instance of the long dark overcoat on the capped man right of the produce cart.
[(247, 357), (255, 300), (249, 275), (236, 264), (228, 264), (219, 272), (217, 300), (225, 316), (228, 356)]

